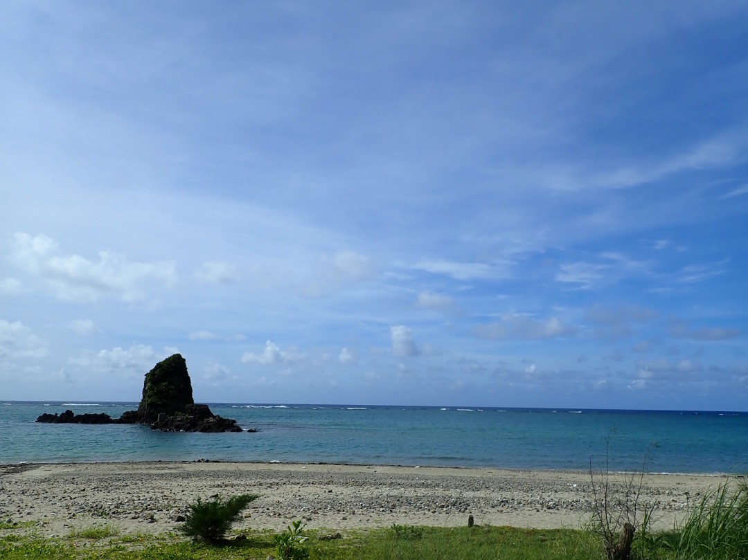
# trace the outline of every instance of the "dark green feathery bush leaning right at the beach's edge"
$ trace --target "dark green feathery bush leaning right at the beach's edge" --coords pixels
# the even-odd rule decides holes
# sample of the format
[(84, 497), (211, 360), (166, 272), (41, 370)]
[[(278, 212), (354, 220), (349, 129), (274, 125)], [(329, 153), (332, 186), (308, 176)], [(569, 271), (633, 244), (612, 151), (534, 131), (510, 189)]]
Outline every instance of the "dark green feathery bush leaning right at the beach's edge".
[(194, 503), (189, 504), (190, 512), (180, 531), (194, 541), (222, 541), (231, 525), (239, 520), (242, 510), (259, 497), (257, 494), (239, 494), (227, 499), (217, 497), (206, 502), (197, 498)]

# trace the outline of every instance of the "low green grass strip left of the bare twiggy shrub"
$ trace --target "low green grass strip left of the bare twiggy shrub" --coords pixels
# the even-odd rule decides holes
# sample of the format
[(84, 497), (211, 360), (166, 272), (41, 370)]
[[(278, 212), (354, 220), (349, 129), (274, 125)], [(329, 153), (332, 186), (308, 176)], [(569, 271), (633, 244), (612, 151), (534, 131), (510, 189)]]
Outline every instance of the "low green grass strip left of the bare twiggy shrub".
[[(444, 529), (418, 527), (397, 536), (393, 529), (347, 532), (343, 538), (323, 541), (326, 533), (306, 532), (309, 559), (497, 559), (589, 560), (598, 556), (593, 535), (568, 529), (526, 530), (509, 527)], [(420, 536), (415, 537), (415, 535)], [(114, 538), (105, 547), (83, 546), (70, 538), (40, 538), (30, 535), (20, 540), (0, 538), (3, 560), (264, 560), (276, 554), (275, 535), (246, 532), (242, 541), (208, 544), (174, 541), (168, 535), (139, 541)], [(405, 536), (405, 538), (403, 538)]]

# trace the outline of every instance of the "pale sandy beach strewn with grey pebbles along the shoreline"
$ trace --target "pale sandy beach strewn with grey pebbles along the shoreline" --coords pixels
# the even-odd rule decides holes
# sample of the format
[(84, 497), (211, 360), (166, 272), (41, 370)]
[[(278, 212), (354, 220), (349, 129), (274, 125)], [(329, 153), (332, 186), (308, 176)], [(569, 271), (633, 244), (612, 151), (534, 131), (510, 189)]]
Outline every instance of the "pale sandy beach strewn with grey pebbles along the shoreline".
[[(621, 482), (622, 475), (611, 476)], [(672, 527), (723, 476), (646, 475), (643, 499)], [(177, 530), (188, 503), (256, 493), (236, 529), (476, 524), (578, 528), (589, 519), (588, 473), (330, 464), (151, 462), (0, 465), (0, 522), (42, 535), (108, 524), (122, 533)]]

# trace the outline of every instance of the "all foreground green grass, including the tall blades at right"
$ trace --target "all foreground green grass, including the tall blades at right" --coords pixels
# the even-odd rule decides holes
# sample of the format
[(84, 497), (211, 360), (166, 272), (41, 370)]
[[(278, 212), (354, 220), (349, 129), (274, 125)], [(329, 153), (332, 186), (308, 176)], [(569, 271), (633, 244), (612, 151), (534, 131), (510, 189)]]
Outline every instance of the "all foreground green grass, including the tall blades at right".
[[(301, 534), (301, 523), (298, 532)], [(304, 531), (310, 560), (594, 560), (604, 544), (589, 529), (439, 528), (393, 525), (360, 529), (326, 540), (331, 532)], [(2, 560), (264, 560), (276, 555), (278, 536), (243, 531), (242, 540), (188, 541), (174, 534), (123, 535), (93, 526), (67, 538), (0, 534)], [(282, 535), (282, 534), (281, 534)], [(297, 536), (298, 536), (297, 535)], [(693, 505), (681, 526), (648, 533), (634, 543), (637, 560), (748, 560), (748, 483), (723, 484)]]

